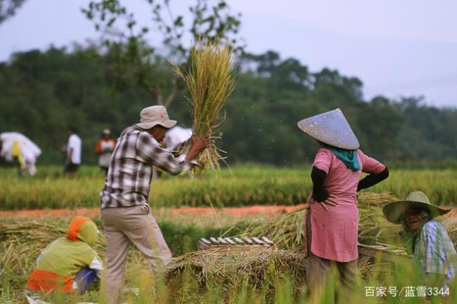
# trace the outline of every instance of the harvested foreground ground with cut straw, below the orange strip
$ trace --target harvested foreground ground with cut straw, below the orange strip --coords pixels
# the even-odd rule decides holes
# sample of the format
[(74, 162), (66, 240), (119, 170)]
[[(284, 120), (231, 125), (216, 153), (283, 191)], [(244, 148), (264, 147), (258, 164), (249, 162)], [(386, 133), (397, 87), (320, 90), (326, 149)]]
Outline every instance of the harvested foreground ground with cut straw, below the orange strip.
[[(397, 227), (388, 225), (379, 216), (382, 201), (390, 198), (390, 194), (371, 193), (360, 197), (361, 242), (374, 241), (373, 235), (378, 235), (378, 240), (383, 241), (392, 236)], [(224, 214), (215, 218), (214, 214), (203, 214), (197, 220), (193, 214), (186, 216), (167, 209), (154, 211), (154, 215), (174, 253), (174, 260), (169, 265), (165, 282), (156, 292), (148, 288), (151, 284), (148, 265), (138, 251), (131, 249), (124, 303), (330, 303), (325, 300), (330, 297), (328, 290), (318, 302), (312, 302), (307, 295), (302, 254), (303, 209), (276, 216), (259, 214), (255, 218), (252, 215), (234, 217)], [(1, 218), (1, 303), (23, 303), (22, 286), (39, 250), (62, 236), (71, 218), (46, 215), (34, 220), (21, 216)], [(91, 218), (103, 230), (100, 218)], [(444, 223), (457, 242), (457, 225), (453, 216), (444, 218)], [(370, 231), (374, 233), (366, 235)], [(195, 251), (200, 237), (259, 233), (270, 237), (277, 249), (270, 253), (240, 255)], [(95, 248), (105, 260), (103, 234)], [(375, 260), (365, 263), (361, 265), (361, 288), (351, 295), (349, 303), (430, 303), (421, 298), (402, 297), (399, 302), (392, 297), (366, 296), (366, 289), (370, 286), (398, 286), (399, 289), (419, 286), (418, 276), (413, 273), (411, 265), (399, 263), (394, 266)], [(94, 289), (75, 300), (95, 302), (100, 300), (99, 297), (98, 289)]]

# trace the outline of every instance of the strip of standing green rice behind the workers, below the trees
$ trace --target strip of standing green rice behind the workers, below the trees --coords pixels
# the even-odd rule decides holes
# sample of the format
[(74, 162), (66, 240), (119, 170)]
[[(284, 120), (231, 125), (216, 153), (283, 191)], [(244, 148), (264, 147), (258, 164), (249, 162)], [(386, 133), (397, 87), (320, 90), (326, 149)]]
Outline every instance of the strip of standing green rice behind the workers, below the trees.
[[(13, 168), (0, 168), (0, 210), (98, 207), (98, 193), (104, 183), (98, 168), (82, 166), (74, 180), (61, 178), (58, 173), (58, 167), (41, 166), (38, 176), (18, 178)], [(421, 190), (435, 204), (456, 206), (456, 183), (456, 169), (392, 169), (390, 178), (369, 191), (406, 197), (410, 191)], [(164, 174), (162, 179), (153, 181), (149, 202), (154, 209), (294, 205), (306, 201), (310, 191), (309, 166), (235, 166), (232, 170), (208, 171), (194, 179), (187, 174)]]

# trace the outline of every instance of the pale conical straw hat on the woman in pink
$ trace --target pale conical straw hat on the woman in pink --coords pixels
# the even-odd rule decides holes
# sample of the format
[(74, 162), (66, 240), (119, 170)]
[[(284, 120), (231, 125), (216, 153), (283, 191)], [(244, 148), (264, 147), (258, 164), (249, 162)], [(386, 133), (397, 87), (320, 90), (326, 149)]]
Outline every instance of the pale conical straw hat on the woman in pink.
[(359, 140), (340, 109), (332, 110), (298, 122), (298, 127), (312, 138), (345, 150), (357, 150)]

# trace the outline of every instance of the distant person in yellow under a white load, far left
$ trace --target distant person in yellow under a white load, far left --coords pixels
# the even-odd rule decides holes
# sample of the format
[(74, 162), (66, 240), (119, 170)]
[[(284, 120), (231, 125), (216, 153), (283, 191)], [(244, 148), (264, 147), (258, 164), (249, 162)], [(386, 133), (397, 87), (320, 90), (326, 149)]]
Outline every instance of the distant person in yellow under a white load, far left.
[(41, 149), (27, 136), (18, 132), (0, 133), (0, 156), (6, 161), (12, 161), (18, 166), (18, 175), (24, 173), (33, 176), (37, 173), (37, 157)]

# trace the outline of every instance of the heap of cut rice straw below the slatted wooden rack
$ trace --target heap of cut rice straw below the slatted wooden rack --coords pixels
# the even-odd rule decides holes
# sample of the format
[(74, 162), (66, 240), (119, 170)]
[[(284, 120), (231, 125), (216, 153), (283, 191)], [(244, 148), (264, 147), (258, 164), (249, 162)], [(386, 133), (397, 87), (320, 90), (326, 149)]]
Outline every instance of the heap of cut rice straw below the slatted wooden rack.
[(227, 296), (240, 284), (248, 284), (271, 296), (275, 286), (283, 279), (288, 279), (296, 288), (303, 286), (304, 267), (303, 254), (294, 251), (195, 251), (172, 260), (168, 265), (167, 281), (170, 288), (176, 286), (180, 289), (178, 292), (184, 290), (181, 286), (195, 282), (200, 291), (221, 288), (223, 290), (219, 292)]

